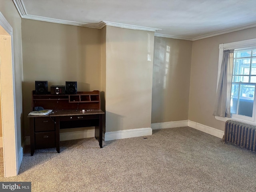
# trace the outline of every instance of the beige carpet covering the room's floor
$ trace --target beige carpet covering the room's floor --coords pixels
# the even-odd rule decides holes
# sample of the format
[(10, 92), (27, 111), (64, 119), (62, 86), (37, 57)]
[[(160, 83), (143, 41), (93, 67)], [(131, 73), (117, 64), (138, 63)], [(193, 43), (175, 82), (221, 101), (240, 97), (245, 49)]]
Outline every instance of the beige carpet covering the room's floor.
[(95, 138), (26, 149), (18, 176), (33, 192), (255, 192), (256, 154), (193, 128), (103, 142)]

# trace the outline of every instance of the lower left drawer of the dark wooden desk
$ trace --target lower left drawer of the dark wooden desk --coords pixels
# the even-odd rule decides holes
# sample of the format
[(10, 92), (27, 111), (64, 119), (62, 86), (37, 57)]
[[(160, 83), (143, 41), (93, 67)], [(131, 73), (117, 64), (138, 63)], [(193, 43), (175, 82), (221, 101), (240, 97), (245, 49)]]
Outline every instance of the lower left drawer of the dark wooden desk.
[(55, 147), (55, 131), (35, 133), (35, 148), (53, 148)]

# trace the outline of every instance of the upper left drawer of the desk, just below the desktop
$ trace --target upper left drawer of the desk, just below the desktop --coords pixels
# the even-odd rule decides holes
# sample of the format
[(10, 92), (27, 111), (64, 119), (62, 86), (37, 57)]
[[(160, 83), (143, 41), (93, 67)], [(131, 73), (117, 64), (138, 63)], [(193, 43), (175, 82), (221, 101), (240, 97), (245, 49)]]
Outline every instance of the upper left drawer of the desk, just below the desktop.
[(35, 118), (35, 132), (54, 131), (54, 122), (50, 117)]

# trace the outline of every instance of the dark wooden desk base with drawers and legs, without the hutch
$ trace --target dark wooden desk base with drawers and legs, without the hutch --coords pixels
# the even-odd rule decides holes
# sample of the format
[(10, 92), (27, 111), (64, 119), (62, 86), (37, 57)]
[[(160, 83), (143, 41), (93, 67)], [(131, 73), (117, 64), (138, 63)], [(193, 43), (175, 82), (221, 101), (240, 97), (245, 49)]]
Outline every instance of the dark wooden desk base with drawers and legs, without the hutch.
[[(86, 110), (84, 113), (82, 110), (55, 110), (54, 113), (46, 116), (28, 116), (30, 118), (31, 156), (33, 156), (35, 149), (39, 148), (56, 147), (59, 153), (60, 129), (64, 128), (95, 126), (95, 138), (102, 148), (103, 114), (102, 110)], [(43, 125), (40, 126), (40, 124)]]

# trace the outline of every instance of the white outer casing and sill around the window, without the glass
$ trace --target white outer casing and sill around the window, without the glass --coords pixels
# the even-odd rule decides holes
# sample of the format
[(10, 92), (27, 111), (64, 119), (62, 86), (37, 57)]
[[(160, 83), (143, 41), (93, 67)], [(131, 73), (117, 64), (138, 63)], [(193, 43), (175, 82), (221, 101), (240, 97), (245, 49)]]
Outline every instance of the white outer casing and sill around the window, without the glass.
[[(225, 43), (225, 44), (219, 44), (219, 61), (218, 61), (218, 77), (217, 77), (217, 88), (220, 78), (220, 70), (221, 70), (221, 64), (222, 64), (222, 57), (223, 57), (223, 51), (229, 50), (229, 49), (240, 49), (240, 48), (252, 48), (256, 46), (256, 38), (255, 39), (249, 39), (244, 41), (237, 41), (237, 42), (231, 42), (231, 43)], [(256, 99), (254, 100), (256, 102)], [(253, 122), (252, 120), (248, 120), (246, 118), (237, 118), (237, 116), (233, 116), (232, 118), (227, 117), (219, 117), (215, 116), (217, 120), (226, 122), (227, 120), (236, 120), (240, 122), (245, 122), (248, 124), (256, 125), (256, 122)]]

